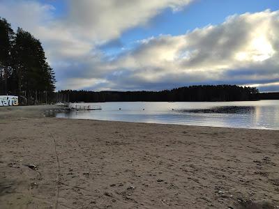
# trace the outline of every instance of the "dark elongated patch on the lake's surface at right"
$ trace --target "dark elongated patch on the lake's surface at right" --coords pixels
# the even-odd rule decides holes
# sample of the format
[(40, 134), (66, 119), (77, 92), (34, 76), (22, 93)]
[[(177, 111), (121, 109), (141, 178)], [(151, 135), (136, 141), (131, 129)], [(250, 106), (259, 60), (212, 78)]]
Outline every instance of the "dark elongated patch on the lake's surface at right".
[(212, 107), (210, 109), (183, 109), (183, 112), (204, 113), (204, 114), (252, 114), (255, 107), (252, 106), (226, 106)]

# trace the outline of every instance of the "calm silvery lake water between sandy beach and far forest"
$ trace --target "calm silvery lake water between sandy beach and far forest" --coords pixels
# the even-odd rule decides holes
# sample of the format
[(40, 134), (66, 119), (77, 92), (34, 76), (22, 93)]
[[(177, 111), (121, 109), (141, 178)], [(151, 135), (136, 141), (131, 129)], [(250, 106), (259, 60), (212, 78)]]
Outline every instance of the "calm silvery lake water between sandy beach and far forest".
[[(75, 107), (75, 104), (71, 104)], [(279, 100), (248, 102), (103, 102), (102, 110), (57, 113), (57, 118), (279, 130)]]

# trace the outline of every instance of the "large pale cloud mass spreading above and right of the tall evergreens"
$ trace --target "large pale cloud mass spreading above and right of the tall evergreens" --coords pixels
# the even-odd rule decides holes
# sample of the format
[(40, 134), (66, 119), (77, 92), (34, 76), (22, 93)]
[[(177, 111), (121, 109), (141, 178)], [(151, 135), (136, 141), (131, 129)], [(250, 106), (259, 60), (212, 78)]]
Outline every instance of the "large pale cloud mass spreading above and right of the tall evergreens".
[[(57, 75), (57, 86), (66, 88), (75, 80), (70, 75), (82, 80), (90, 71), (95, 79), (102, 79), (105, 71), (110, 71), (111, 67), (102, 63), (102, 46), (119, 44), (116, 40), (124, 31), (148, 24), (166, 8), (175, 12), (190, 1), (70, 0), (66, 1), (67, 12), (55, 17), (55, 8), (51, 4), (3, 0), (0, 1), (0, 14), (12, 23), (14, 29), (21, 26), (43, 42), (48, 61)], [(94, 77), (89, 80), (94, 81)], [(89, 85), (89, 82), (85, 83)], [(85, 85), (79, 84), (80, 88)]]

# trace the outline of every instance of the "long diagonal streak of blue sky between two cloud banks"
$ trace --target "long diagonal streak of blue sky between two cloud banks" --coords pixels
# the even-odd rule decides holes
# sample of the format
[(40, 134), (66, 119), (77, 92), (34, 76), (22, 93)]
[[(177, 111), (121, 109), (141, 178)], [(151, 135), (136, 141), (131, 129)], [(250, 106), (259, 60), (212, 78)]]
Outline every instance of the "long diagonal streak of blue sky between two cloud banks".
[(153, 17), (146, 26), (138, 26), (123, 33), (124, 46), (133, 47), (137, 40), (169, 34), (178, 36), (209, 24), (223, 23), (230, 15), (278, 10), (278, 0), (197, 0), (183, 10), (165, 10)]

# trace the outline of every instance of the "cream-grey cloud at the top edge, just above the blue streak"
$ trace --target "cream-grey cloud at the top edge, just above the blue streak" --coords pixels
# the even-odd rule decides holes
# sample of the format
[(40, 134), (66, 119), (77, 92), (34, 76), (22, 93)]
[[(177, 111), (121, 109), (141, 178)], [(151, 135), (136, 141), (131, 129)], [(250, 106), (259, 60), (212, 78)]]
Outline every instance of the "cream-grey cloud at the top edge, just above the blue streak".
[(179, 10), (192, 0), (70, 1), (67, 26), (90, 40), (112, 40), (123, 31), (147, 24), (165, 8)]

